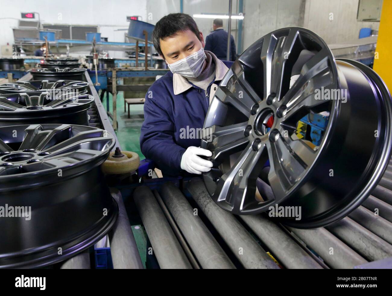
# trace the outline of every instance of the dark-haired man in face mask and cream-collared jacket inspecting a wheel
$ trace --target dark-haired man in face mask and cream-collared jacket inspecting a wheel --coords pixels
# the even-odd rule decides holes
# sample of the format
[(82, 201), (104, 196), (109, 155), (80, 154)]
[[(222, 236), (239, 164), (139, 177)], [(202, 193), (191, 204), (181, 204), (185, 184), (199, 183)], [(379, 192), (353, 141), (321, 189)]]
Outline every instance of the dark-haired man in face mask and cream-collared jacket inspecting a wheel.
[(208, 172), (212, 162), (204, 158), (212, 154), (200, 148), (200, 131), (211, 99), (232, 62), (203, 50), (203, 34), (188, 14), (161, 18), (152, 41), (170, 72), (146, 93), (142, 153), (156, 163), (163, 176)]

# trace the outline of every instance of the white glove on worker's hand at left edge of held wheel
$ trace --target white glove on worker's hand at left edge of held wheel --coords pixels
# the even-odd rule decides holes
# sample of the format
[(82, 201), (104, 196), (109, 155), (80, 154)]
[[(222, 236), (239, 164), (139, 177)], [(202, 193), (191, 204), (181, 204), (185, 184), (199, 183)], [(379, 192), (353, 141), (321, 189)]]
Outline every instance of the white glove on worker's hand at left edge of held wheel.
[(182, 154), (181, 169), (191, 174), (200, 175), (201, 172), (208, 172), (212, 168), (212, 161), (205, 160), (198, 155), (211, 156), (212, 152), (200, 147), (188, 147)]

